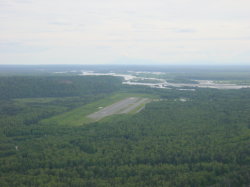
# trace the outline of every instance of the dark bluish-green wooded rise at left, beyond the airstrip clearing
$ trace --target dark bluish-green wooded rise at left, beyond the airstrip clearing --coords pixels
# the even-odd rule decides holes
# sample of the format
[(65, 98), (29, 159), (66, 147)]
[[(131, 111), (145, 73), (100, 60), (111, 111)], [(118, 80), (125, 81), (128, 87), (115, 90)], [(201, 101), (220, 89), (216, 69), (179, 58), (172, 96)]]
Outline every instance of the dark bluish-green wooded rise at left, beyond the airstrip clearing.
[(121, 78), (109, 76), (13, 76), (0, 78), (0, 99), (110, 94)]

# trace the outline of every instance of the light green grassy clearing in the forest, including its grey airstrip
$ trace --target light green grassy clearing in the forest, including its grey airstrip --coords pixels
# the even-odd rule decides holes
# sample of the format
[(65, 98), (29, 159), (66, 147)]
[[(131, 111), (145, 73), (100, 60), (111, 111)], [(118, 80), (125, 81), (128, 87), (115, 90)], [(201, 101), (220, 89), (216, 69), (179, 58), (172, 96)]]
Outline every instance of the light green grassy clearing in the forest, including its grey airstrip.
[[(101, 120), (106, 116), (110, 116), (113, 114), (134, 114), (136, 112), (139, 112), (146, 103), (150, 102), (154, 98), (156, 98), (156, 96), (150, 94), (117, 93), (93, 103), (75, 108), (71, 111), (52, 116), (50, 118), (42, 120), (41, 122), (46, 124), (58, 124), (67, 126), (88, 124), (94, 121)], [(95, 117), (100, 115), (100, 113), (98, 112), (103, 111), (103, 109), (108, 109), (106, 110), (108, 115), (102, 114), (102, 116), (100, 117)], [(95, 115), (96, 113), (97, 115)]]

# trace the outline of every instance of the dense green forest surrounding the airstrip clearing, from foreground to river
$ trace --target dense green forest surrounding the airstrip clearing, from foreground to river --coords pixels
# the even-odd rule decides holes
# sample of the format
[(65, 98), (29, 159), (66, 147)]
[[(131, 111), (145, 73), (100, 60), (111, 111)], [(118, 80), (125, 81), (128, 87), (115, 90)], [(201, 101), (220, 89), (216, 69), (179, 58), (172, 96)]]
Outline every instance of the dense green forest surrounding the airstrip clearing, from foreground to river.
[[(119, 92), (159, 99), (82, 126), (42, 122)], [(249, 96), (108, 76), (0, 77), (0, 186), (249, 186)]]

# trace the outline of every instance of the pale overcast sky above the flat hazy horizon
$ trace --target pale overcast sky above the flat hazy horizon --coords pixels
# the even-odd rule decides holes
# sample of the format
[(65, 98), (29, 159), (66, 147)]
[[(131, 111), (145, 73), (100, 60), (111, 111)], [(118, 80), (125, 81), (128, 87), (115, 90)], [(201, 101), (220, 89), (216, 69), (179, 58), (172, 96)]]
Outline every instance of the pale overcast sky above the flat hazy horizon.
[(250, 1), (0, 0), (0, 64), (250, 65)]

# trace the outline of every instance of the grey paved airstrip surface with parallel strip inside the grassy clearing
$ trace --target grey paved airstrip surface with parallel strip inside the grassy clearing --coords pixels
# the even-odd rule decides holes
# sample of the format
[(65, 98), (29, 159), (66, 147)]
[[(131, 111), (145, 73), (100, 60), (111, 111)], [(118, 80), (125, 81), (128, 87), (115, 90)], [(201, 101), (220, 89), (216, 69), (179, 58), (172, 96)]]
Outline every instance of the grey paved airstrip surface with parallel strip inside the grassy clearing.
[(102, 108), (101, 110), (94, 112), (88, 115), (87, 117), (98, 121), (104, 117), (113, 114), (129, 113), (130, 111), (136, 109), (141, 104), (146, 103), (148, 101), (149, 101), (148, 98), (129, 97), (121, 101), (118, 101), (112, 105), (109, 105), (105, 108)]

